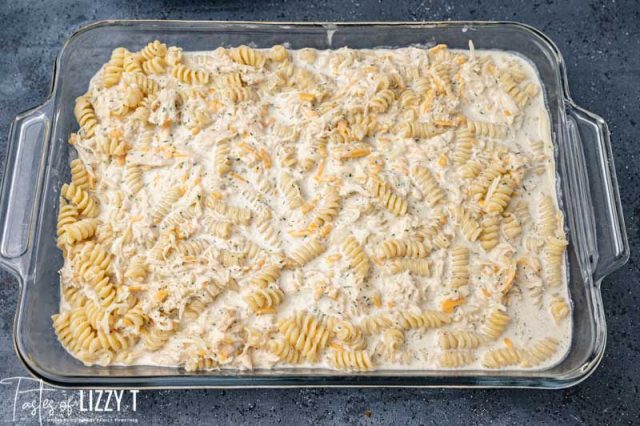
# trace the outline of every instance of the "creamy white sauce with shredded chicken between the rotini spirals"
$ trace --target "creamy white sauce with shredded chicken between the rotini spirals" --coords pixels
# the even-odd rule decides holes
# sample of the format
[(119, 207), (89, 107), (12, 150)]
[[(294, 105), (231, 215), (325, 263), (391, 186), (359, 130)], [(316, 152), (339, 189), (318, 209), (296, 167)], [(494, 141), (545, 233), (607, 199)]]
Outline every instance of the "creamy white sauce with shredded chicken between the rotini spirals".
[[(266, 54), (267, 51), (261, 52)], [(357, 59), (352, 58), (354, 52)], [(469, 55), (468, 51), (452, 52)], [(326, 92), (327, 98), (337, 93), (344, 94), (342, 102), (346, 107), (366, 106), (367, 101), (376, 93), (375, 79), (379, 76), (403, 75), (411, 67), (422, 69), (429, 64), (427, 51), (418, 48), (360, 51), (341, 49), (316, 51), (316, 54), (315, 62), (308, 63), (300, 59), (299, 51), (289, 51), (297, 69), (314, 73), (316, 87)], [(442, 102), (436, 101), (429, 112), (421, 111), (418, 107), (419, 117), (416, 122), (451, 119), (450, 113), (455, 112), (468, 120), (506, 126), (508, 135), (505, 138), (496, 141), (478, 138), (471, 160), (481, 155), (486, 144), (497, 143), (511, 153), (512, 164), (522, 163), (523, 167), (518, 167), (517, 170), (522, 171), (523, 189), (510, 203), (510, 206), (514, 206), (518, 201), (524, 201), (528, 205), (531, 220), (523, 225), (522, 235), (509, 241), (501, 231), (500, 244), (487, 252), (477, 241), (468, 242), (459, 226), (449, 218), (443, 231), (451, 237), (451, 246), (461, 245), (471, 250), (470, 280), (468, 285), (458, 289), (453, 289), (448, 284), (448, 249), (436, 248), (429, 255), (430, 277), (420, 277), (409, 272), (390, 275), (385, 272), (385, 266), (371, 260), (376, 256), (376, 247), (382, 240), (410, 238), (437, 211), (444, 208), (446, 212), (448, 205), (460, 203), (466, 188), (473, 181), (462, 180), (459, 167), (452, 165), (454, 132), (447, 131), (433, 138), (420, 140), (401, 137), (394, 129), (402, 121), (404, 112), (399, 110), (398, 102), (394, 102), (387, 113), (377, 114), (378, 126), (387, 130), (380, 131), (376, 137), (365, 138), (363, 143), (372, 147), (384, 163), (381, 172), (384, 180), (395, 193), (407, 199), (408, 214), (396, 217), (380, 208), (359, 181), (360, 177), (369, 173), (371, 155), (346, 161), (335, 160), (332, 159), (332, 151), (348, 145), (329, 142), (329, 157), (323, 175), (335, 175), (341, 180), (341, 185), (338, 186), (341, 209), (333, 221), (333, 230), (325, 241), (327, 250), (303, 268), (286, 269), (282, 272), (277, 285), (284, 291), (284, 300), (275, 314), (264, 315), (252, 313), (244, 300), (255, 290), (249, 282), (261, 269), (259, 264), (249, 262), (248, 271), (243, 267), (225, 267), (220, 263), (219, 251), (234, 251), (242, 241), (253, 241), (265, 251), (265, 263), (270, 264), (279, 262), (282, 254), (289, 256), (306, 241), (290, 235), (290, 231), (305, 229), (316, 213), (317, 206), (307, 214), (300, 209), (291, 210), (278, 189), (278, 179), (281, 171), (286, 169), (300, 184), (305, 202), (317, 198), (317, 205), (322, 204), (322, 194), (328, 184), (318, 183), (313, 178), (318, 174), (320, 160), (316, 142), (328, 136), (327, 121), (330, 117), (320, 116), (316, 113), (317, 107), (300, 101), (298, 94), (302, 90), (264, 89), (274, 79), (278, 63), (268, 63), (264, 69), (242, 66), (218, 49), (213, 52), (185, 52), (183, 62), (194, 69), (212, 73), (240, 71), (246, 82), (253, 83), (250, 87), (261, 87), (257, 90), (257, 98), (239, 105), (227, 103), (216, 109), (211, 107), (212, 99), (216, 97), (215, 91), (205, 90), (204, 99), (190, 97), (186, 104), (176, 106), (180, 104), (177, 101), (178, 92), (187, 91), (190, 87), (167, 74), (152, 76), (160, 83), (162, 90), (157, 97), (159, 106), (156, 105), (157, 109), (149, 118), (157, 126), (145, 128), (132, 115), (120, 119), (111, 114), (122, 101), (124, 82), (105, 89), (101, 87), (102, 71), (99, 72), (90, 86), (91, 99), (100, 122), (99, 128), (94, 138), (81, 139), (76, 143), (76, 148), (79, 157), (97, 180), (97, 187), (92, 195), (97, 198), (101, 207), (98, 219), (111, 224), (114, 230), (115, 238), (108, 247), (114, 255), (113, 280), (123, 288), (131, 285), (144, 287), (144, 291), (133, 293), (151, 320), (161, 325), (166, 321), (166, 312), (172, 309), (178, 312), (179, 318), (189, 297), (200, 294), (202, 286), (207, 282), (215, 280), (225, 283), (230, 278), (235, 278), (238, 283), (237, 289), (225, 288), (197, 319), (180, 320), (178, 331), (162, 348), (149, 351), (140, 341), (131, 351), (116, 357), (113, 363), (184, 365), (193, 357), (194, 348), (204, 345), (217, 359), (218, 368), (330, 368), (329, 348), (322, 352), (317, 363), (289, 366), (279, 362), (275, 355), (265, 349), (267, 341), (279, 335), (277, 320), (306, 309), (314, 314), (335, 316), (357, 325), (367, 315), (389, 311), (388, 306), (393, 306), (393, 312), (440, 310), (445, 299), (459, 296), (464, 296), (466, 302), (454, 310), (448, 325), (437, 329), (405, 331), (404, 345), (391, 356), (383, 355), (381, 336), (368, 336), (367, 351), (375, 369), (441, 368), (438, 364), (438, 357), (442, 352), (438, 346), (440, 332), (478, 332), (485, 316), (495, 307), (506, 309), (511, 315), (511, 323), (499, 339), (473, 350), (475, 361), (461, 368), (483, 369), (481, 361), (484, 353), (504, 348), (505, 338), (523, 351), (538, 339), (553, 338), (559, 343), (558, 349), (536, 368), (546, 368), (561, 360), (570, 345), (571, 315), (556, 324), (550, 313), (550, 303), (556, 295), (568, 300), (566, 278), (560, 287), (544, 288), (541, 303), (536, 305), (527, 288), (530, 283), (518, 277), (509, 292), (508, 301), (502, 305), (500, 293), (492, 290), (497, 284), (497, 277), (483, 273), (494, 266), (498, 269), (506, 268), (504, 258), (515, 261), (527, 255), (529, 250), (524, 247), (523, 238), (538, 236), (540, 197), (547, 195), (556, 200), (549, 117), (540, 94), (540, 80), (529, 62), (513, 54), (483, 50), (476, 50), (474, 54), (477, 61), (467, 61), (460, 66), (460, 76), (464, 81), (464, 89), (460, 92), (462, 97), (443, 97)], [(485, 58), (490, 58), (497, 69), (517, 69), (522, 72), (526, 81), (538, 87), (538, 95), (533, 96), (527, 106), (520, 110), (513, 97), (505, 92), (495, 78), (480, 75)], [(408, 87), (411, 84), (411, 81), (407, 82)], [(190, 125), (188, 120), (191, 116), (195, 117), (199, 110), (207, 111), (210, 122), (203, 126)], [(287, 143), (296, 150), (298, 163), (293, 168), (282, 167), (278, 160), (280, 149), (284, 145), (282, 141), (286, 138), (275, 134), (274, 123), (291, 126), (298, 133), (291, 143)], [(196, 131), (193, 130), (195, 127)], [(129, 194), (124, 187), (123, 165), (96, 149), (96, 140), (107, 137), (115, 128), (124, 132), (129, 145), (126, 162), (144, 167), (144, 188), (136, 195)], [(230, 174), (219, 177), (215, 173), (217, 142), (229, 137), (232, 138), (232, 171), (245, 179), (246, 183)], [(533, 141), (543, 141), (542, 153), (532, 149)], [(253, 157), (254, 154), (241, 147), (240, 142), (255, 151), (260, 148), (266, 150), (271, 155), (273, 166), (266, 169)], [(314, 165), (309, 170), (301, 167), (301, 163), (307, 158), (314, 160)], [(436, 208), (426, 205), (422, 194), (406, 172), (414, 165), (431, 170), (438, 184), (446, 191), (445, 203)], [(260, 190), (261, 183), (264, 182), (273, 186), (271, 193)], [(181, 208), (201, 206), (208, 193), (218, 192), (223, 195), (225, 203), (252, 210), (253, 223), (250, 226), (234, 225), (230, 240), (217, 238), (206, 230), (205, 225), (208, 219), (216, 218), (216, 215), (199, 207), (200, 213), (183, 224), (185, 229), (193, 231), (191, 239), (201, 239), (209, 245), (204, 251), (199, 251), (197, 261), (185, 262), (184, 258), (175, 254), (164, 261), (149, 261), (149, 273), (144, 282), (139, 284), (131, 281), (124, 277), (124, 271), (134, 256), (148, 260), (162, 228), (162, 223), (160, 226), (153, 223), (151, 212), (167, 191), (174, 187), (181, 188), (184, 194), (173, 204), (167, 216)], [(272, 246), (256, 229), (255, 217), (262, 210), (271, 211), (271, 223), (283, 251)], [(131, 233), (129, 241), (124, 236), (127, 232)], [(364, 283), (357, 281), (339, 248), (342, 240), (351, 234), (361, 243), (370, 258), (370, 273)], [(541, 259), (544, 267), (541, 253), (529, 253), (529, 256)], [(331, 262), (329, 259), (336, 254), (341, 254), (341, 258)], [(71, 261), (65, 262), (61, 271), (63, 283), (76, 282), (73, 268)], [(565, 277), (564, 265), (562, 268), (562, 276)], [(539, 280), (544, 286), (543, 279)], [(489, 298), (482, 288), (490, 289)], [(158, 304), (154, 302), (154, 295), (160, 290), (168, 290), (168, 296), (163, 303)], [(85, 286), (83, 291), (88, 297), (95, 298), (90, 288)], [(381, 309), (376, 308), (372, 302), (376, 294), (381, 296)], [(332, 298), (331, 295), (337, 297)], [(63, 301), (61, 309), (69, 309), (69, 305)], [(220, 353), (227, 352), (236, 355), (219, 356)], [(514, 365), (508, 368), (521, 367)]]

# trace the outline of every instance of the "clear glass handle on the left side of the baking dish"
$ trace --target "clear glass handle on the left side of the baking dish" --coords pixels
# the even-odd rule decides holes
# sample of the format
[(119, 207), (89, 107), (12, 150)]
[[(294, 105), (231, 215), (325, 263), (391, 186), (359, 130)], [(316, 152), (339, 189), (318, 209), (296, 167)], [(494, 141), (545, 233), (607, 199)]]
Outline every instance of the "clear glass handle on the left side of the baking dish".
[(0, 264), (24, 275), (44, 175), (53, 102), (18, 114), (11, 124), (0, 194)]

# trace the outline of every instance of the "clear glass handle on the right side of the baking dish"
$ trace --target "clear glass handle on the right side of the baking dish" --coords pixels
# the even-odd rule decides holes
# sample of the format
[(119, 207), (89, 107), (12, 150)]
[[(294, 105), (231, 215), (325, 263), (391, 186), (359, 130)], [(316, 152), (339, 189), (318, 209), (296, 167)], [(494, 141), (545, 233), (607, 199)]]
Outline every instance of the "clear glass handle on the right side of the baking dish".
[[(586, 191), (586, 199), (591, 200), (590, 209), (578, 208), (576, 213), (593, 213), (592, 218), (584, 215), (581, 222), (587, 233), (587, 244), (593, 249), (587, 249), (587, 261), (591, 264), (593, 280), (598, 283), (629, 259), (629, 242), (611, 153), (609, 127), (602, 117), (572, 103), (568, 104), (567, 115), (569, 140), (576, 142), (571, 145), (578, 150), (573, 153), (573, 161), (582, 169), (585, 183), (573, 189)], [(582, 156), (579, 151), (582, 151)], [(582, 167), (579, 163), (583, 163)]]

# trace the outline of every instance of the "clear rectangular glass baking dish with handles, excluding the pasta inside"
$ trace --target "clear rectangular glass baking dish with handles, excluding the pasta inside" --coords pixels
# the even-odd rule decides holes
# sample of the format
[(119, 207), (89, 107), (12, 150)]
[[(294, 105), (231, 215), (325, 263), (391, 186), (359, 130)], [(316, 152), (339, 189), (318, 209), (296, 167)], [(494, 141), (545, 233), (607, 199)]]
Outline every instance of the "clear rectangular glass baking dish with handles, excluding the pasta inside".
[[(445, 43), (501, 49), (528, 58), (543, 82), (555, 147), (560, 206), (569, 237), (573, 341), (562, 362), (538, 371), (219, 371), (189, 373), (160, 367), (87, 367), (56, 340), (58, 196), (69, 180), (70, 146), (77, 129), (74, 99), (118, 46), (134, 50), (160, 39), (185, 50), (252, 44), (329, 49), (405, 47)], [(602, 279), (629, 257), (609, 131), (602, 118), (569, 96), (565, 64), (544, 34), (509, 22), (249, 23), (204, 21), (101, 21), (77, 31), (58, 55), (49, 98), (17, 116), (9, 135), (2, 182), (0, 264), (20, 284), (16, 351), (29, 371), (71, 387), (285, 387), (432, 386), (563, 388), (584, 380), (604, 353), (606, 324)]]

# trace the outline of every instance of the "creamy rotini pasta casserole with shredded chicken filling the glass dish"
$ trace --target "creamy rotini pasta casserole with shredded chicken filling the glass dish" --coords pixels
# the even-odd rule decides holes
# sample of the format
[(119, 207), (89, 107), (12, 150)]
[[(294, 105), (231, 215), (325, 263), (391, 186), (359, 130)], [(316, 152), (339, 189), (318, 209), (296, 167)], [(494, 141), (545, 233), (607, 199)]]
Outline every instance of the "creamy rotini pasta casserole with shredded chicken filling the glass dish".
[(569, 347), (521, 57), (153, 41), (114, 50), (75, 115), (53, 328), (86, 364), (520, 369)]

